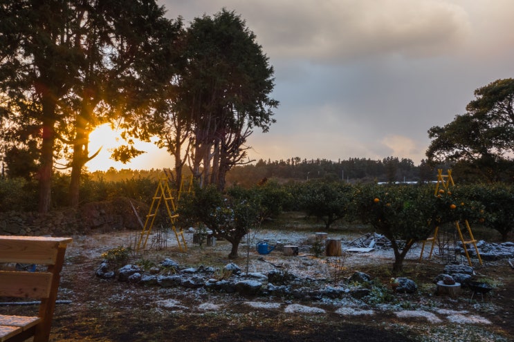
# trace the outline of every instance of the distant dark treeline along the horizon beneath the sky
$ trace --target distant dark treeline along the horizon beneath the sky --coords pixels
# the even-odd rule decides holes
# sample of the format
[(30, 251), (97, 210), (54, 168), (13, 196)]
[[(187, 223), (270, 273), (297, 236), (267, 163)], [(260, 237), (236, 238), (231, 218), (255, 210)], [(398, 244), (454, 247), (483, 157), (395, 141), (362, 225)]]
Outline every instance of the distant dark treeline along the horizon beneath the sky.
[[(419, 165), (407, 158), (387, 157), (383, 160), (369, 158), (349, 158), (334, 162), (327, 159), (259, 160), (252, 164), (233, 167), (227, 174), (227, 185), (239, 184), (251, 187), (265, 179), (309, 180), (328, 179), (347, 182), (430, 182), (437, 180), (437, 169), (445, 166), (430, 167), (424, 161)], [(120, 181), (131, 178), (159, 178), (164, 171), (160, 169), (131, 170), (109, 169), (91, 173), (93, 180)], [(445, 172), (446, 173), (446, 172)], [(167, 174), (173, 174), (167, 170)], [(185, 174), (187, 178), (189, 174)], [(172, 176), (173, 177), (173, 176)], [(455, 177), (454, 177), (455, 178)]]

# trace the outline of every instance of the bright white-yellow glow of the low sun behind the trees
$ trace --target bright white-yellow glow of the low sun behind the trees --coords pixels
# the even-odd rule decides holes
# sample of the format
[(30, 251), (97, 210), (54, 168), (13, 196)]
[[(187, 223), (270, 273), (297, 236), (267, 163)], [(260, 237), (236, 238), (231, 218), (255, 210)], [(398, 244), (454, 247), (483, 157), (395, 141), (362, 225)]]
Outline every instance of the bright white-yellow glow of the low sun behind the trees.
[[(152, 140), (152, 141), (155, 141)], [(136, 149), (145, 151), (142, 155), (133, 158), (127, 164), (112, 160), (111, 153), (113, 149), (124, 144), (120, 132), (111, 129), (109, 124), (98, 126), (89, 135), (89, 154), (93, 154), (101, 148), (100, 153), (86, 163), (86, 167), (90, 172), (107, 171), (113, 167), (114, 169), (133, 169), (133, 170), (150, 170), (163, 169), (172, 167), (172, 157), (165, 149), (158, 149), (153, 142), (142, 142), (134, 140)]]

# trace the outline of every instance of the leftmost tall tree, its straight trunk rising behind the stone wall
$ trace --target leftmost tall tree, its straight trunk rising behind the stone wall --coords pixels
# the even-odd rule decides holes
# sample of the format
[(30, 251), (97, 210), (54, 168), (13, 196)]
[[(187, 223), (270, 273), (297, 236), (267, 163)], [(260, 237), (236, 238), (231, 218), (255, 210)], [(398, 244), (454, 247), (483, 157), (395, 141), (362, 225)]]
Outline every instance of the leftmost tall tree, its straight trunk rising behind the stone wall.
[[(80, 46), (71, 34), (67, 1), (3, 1), (0, 4), (0, 91), (8, 96), (4, 114), (39, 144), (39, 211), (51, 205), (51, 176), (59, 102), (77, 77)], [(37, 125), (37, 130), (27, 130)]]

